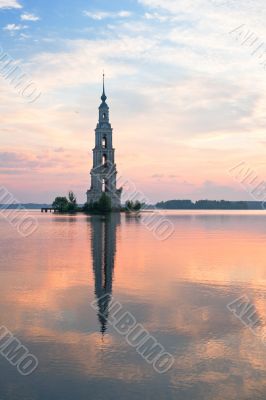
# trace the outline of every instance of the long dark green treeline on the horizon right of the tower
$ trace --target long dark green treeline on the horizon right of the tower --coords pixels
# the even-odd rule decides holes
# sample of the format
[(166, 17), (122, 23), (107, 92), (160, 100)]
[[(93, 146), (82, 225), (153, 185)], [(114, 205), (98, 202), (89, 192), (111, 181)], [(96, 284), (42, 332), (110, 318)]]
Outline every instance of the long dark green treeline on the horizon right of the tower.
[(164, 210), (259, 210), (263, 209), (263, 204), (260, 201), (168, 200), (157, 203), (156, 207)]

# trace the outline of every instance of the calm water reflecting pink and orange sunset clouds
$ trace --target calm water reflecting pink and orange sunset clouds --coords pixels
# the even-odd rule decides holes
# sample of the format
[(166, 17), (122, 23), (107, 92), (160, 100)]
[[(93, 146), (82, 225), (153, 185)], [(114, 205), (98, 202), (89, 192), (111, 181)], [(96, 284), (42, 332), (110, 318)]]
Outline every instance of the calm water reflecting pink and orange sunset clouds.
[[(23, 377), (0, 356), (1, 400), (266, 399), (266, 346), (226, 307), (246, 295), (266, 324), (266, 213), (165, 214), (164, 242), (124, 215), (34, 212), (26, 239), (0, 217), (0, 325), (39, 360)], [(99, 318), (105, 292), (174, 355), (168, 372)]]

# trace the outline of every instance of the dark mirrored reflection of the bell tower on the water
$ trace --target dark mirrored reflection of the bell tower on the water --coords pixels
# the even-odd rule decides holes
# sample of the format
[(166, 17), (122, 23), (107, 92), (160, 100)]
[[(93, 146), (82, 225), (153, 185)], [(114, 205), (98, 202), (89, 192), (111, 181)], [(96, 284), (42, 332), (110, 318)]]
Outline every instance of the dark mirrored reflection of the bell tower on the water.
[(98, 299), (98, 318), (102, 334), (106, 331), (108, 307), (112, 295), (118, 224), (120, 224), (120, 214), (91, 218), (95, 295)]

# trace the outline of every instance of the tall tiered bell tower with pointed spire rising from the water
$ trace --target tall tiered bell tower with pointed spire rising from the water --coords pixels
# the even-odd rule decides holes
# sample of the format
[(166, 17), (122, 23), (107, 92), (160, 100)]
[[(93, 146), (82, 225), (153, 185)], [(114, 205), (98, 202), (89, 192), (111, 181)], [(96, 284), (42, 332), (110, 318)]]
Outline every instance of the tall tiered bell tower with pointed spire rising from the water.
[(113, 148), (113, 129), (109, 120), (109, 107), (106, 103), (105, 76), (103, 74), (103, 93), (99, 107), (99, 120), (95, 129), (95, 147), (93, 149), (93, 167), (91, 170), (91, 188), (87, 191), (87, 202), (99, 201), (103, 193), (110, 198), (112, 209), (121, 207), (122, 189), (116, 188), (115, 149)]

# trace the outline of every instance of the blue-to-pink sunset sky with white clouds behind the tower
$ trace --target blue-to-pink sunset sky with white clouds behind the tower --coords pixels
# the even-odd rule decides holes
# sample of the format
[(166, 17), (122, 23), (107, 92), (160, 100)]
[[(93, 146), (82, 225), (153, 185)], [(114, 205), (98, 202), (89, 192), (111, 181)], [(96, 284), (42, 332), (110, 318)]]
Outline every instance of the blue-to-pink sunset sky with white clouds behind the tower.
[(150, 202), (261, 200), (230, 171), (266, 180), (265, 16), (262, 0), (0, 0), (0, 184), (85, 202), (104, 69), (121, 180)]

